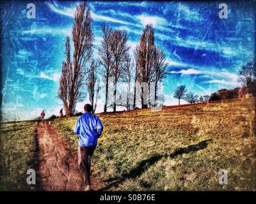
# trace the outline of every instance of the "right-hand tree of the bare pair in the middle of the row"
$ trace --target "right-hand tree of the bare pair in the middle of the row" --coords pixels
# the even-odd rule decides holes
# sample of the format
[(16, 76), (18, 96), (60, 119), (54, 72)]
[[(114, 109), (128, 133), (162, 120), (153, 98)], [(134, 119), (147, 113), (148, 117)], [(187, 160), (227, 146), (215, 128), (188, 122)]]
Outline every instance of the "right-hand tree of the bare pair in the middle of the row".
[(111, 68), (111, 75), (113, 76), (113, 112), (116, 112), (116, 91), (118, 79), (122, 75), (125, 68), (125, 62), (129, 58), (129, 47), (127, 46), (127, 32), (113, 31), (111, 36), (111, 51), (113, 52), (113, 67)]

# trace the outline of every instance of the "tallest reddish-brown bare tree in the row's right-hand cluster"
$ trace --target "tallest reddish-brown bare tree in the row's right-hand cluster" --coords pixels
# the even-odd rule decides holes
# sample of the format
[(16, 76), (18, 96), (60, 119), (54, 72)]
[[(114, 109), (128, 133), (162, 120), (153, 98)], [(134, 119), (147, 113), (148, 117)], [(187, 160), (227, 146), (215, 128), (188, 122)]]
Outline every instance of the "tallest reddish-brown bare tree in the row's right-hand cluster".
[[(138, 48), (138, 80), (141, 83), (141, 106), (147, 108), (145, 103), (145, 94), (148, 91), (148, 104), (150, 104), (150, 82), (154, 73), (154, 56), (156, 47), (154, 46), (154, 28), (152, 25), (146, 25), (140, 38)], [(148, 90), (145, 90), (147, 84)]]

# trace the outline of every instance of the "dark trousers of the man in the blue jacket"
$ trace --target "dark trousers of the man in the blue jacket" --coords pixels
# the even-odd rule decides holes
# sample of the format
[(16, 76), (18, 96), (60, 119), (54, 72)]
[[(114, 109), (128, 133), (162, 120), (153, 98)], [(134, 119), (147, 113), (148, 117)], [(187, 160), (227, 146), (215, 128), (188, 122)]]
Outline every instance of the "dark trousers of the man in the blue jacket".
[(91, 185), (91, 157), (96, 146), (92, 147), (79, 147), (78, 146), (78, 165), (81, 177), (83, 180), (83, 186)]

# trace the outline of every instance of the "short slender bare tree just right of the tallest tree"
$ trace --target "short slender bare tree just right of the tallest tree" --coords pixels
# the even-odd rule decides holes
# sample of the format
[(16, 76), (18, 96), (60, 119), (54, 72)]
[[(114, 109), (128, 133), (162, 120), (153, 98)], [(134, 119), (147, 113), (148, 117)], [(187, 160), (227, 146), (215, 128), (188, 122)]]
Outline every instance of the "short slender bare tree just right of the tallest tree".
[[(99, 64), (92, 60), (90, 64), (90, 71), (88, 73), (88, 79), (87, 79), (87, 89), (89, 94), (89, 100), (93, 107), (93, 113), (96, 110), (97, 107), (97, 101), (99, 99), (99, 90), (100, 90), (100, 80), (97, 78), (97, 68), (99, 67)], [(97, 82), (97, 87), (95, 87)]]

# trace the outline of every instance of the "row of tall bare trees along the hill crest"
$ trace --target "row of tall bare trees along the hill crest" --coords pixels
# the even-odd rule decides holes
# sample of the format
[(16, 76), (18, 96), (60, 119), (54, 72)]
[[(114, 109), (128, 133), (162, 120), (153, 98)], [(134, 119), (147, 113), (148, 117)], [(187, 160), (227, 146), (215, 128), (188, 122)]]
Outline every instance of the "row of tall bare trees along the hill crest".
[[(158, 84), (166, 74), (166, 55), (154, 42), (154, 28), (146, 25), (140, 42), (133, 50), (127, 45), (124, 30), (114, 30), (103, 24), (102, 40), (96, 47), (99, 59), (93, 59), (93, 32), (90, 10), (83, 2), (76, 7), (72, 26), (74, 52), (71, 56), (70, 38), (65, 43), (66, 59), (61, 68), (58, 97), (67, 116), (74, 114), (76, 103), (85, 99), (88, 91), (93, 112), (99, 99), (100, 80), (104, 83), (104, 112), (112, 106), (141, 108), (157, 105)], [(120, 82), (125, 86), (121, 87)], [(154, 87), (150, 84), (154, 84)], [(122, 89), (121, 89), (122, 88)], [(120, 90), (121, 89), (121, 90)], [(133, 90), (132, 90), (133, 89)]]

